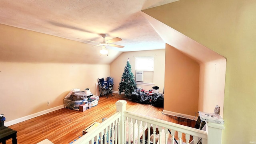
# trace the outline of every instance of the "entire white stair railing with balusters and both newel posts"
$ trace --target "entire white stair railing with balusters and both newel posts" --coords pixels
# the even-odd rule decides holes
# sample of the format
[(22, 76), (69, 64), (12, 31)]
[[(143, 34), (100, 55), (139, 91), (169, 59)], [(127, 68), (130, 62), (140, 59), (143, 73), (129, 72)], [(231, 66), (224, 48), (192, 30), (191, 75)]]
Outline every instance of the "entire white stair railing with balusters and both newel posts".
[[(104, 120), (94, 130), (86, 133), (73, 144), (94, 144), (94, 142), (103, 144), (103, 138), (104, 144), (110, 144), (107, 140), (112, 140), (112, 144), (147, 144), (150, 141), (150, 134), (153, 134), (153, 143), (150, 144), (176, 144), (175, 137), (178, 137), (179, 144), (197, 144), (198, 140), (202, 140), (202, 144), (221, 144), (223, 124), (206, 122), (206, 131), (198, 130), (127, 112), (126, 103), (125, 100), (118, 100), (116, 114)], [(148, 137), (146, 138), (146, 136)], [(182, 139), (185, 140), (182, 141)]]

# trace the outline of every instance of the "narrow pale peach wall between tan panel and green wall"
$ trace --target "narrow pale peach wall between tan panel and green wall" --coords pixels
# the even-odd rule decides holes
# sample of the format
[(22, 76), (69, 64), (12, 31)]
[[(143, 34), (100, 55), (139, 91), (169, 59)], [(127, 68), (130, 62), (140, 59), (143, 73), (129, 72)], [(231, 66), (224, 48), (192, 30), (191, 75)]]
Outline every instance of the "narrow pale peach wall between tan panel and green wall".
[(218, 105), (220, 116), (223, 116), (225, 74), (225, 58), (200, 64), (198, 111), (213, 113)]

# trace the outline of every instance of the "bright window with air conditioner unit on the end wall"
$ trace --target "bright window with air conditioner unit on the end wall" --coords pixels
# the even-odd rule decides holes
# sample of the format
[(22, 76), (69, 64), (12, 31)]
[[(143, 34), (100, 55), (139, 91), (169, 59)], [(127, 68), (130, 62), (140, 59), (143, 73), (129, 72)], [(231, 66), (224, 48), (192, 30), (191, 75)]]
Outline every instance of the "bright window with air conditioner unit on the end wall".
[(137, 82), (153, 83), (154, 57), (136, 57), (135, 70)]

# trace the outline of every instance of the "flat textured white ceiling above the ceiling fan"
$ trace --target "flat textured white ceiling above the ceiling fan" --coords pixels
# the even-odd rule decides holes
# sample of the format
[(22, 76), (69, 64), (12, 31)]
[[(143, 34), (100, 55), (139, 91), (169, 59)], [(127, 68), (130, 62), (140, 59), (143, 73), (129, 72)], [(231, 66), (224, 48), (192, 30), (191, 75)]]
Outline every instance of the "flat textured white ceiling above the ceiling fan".
[[(141, 10), (177, 0), (1, 0), (0, 23), (87, 44), (119, 37), (121, 52), (165, 48)], [(78, 39), (80, 38), (80, 39)]]

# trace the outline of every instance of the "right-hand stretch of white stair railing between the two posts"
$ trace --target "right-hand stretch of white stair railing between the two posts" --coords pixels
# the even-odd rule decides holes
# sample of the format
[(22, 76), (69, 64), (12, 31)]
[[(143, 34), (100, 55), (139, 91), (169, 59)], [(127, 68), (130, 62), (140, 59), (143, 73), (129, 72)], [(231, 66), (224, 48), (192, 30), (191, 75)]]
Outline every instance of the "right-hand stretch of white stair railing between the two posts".
[[(131, 112), (124, 112), (124, 119), (128, 121), (129, 125), (128, 127), (128, 132), (125, 131), (124, 135), (130, 136), (133, 140), (133, 142), (136, 139), (135, 143), (138, 142), (142, 142), (142, 144), (144, 144), (144, 140), (146, 140), (146, 142), (149, 141), (149, 137), (151, 134), (153, 134), (153, 143), (156, 143), (156, 130), (158, 131), (157, 134), (159, 134), (159, 142), (163, 142), (164, 144), (167, 144), (168, 140), (166, 141), (166, 138), (168, 138), (169, 131), (171, 132), (171, 139), (172, 139), (172, 143), (176, 144), (174, 141), (174, 134), (175, 132), (178, 132), (178, 142), (179, 144), (182, 144), (182, 134), (185, 135), (185, 139), (186, 141), (184, 143), (189, 144), (189, 141), (192, 141), (192, 139), (190, 140), (190, 136), (193, 136), (194, 138), (202, 138), (203, 144), (205, 142), (207, 142), (207, 132), (204, 130), (198, 130), (196, 128), (191, 128), (188, 126), (183, 126), (180, 124), (175, 124), (172, 122), (167, 122), (164, 120), (159, 120), (156, 118), (150, 118), (148, 116), (141, 116), (138, 114), (134, 114)], [(131, 127), (130, 123), (132, 123), (133, 127)], [(140, 132), (139, 129), (135, 130), (136, 128), (139, 128), (140, 126), (143, 127), (143, 129), (148, 128), (147, 133), (147, 139), (146, 137), (144, 137), (145, 135), (145, 130)], [(151, 130), (150, 130), (151, 128)], [(131, 130), (130, 130), (131, 129)], [(133, 131), (133, 134), (130, 133), (130, 131)], [(136, 136), (136, 134), (134, 133), (134, 131), (140, 132), (142, 140), (140, 140), (140, 137)], [(144, 134), (144, 135), (143, 135)], [(164, 135), (163, 137), (165, 138), (165, 140), (162, 140), (162, 135)], [(197, 139), (196, 138), (196, 139)], [(130, 138), (128, 139), (128, 144), (130, 144)], [(197, 143), (196, 140), (194, 140), (195, 143)], [(214, 143), (216, 144), (216, 143)]]

